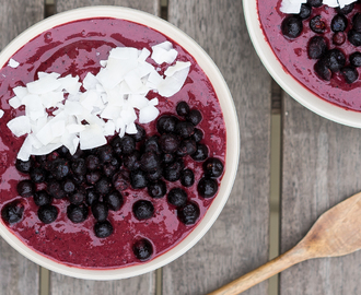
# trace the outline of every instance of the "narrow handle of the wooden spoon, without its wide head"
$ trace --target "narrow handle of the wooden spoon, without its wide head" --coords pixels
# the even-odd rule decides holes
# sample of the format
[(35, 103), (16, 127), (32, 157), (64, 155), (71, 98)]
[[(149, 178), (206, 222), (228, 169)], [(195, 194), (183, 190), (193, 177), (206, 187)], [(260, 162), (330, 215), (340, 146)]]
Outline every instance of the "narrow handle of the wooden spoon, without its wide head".
[(304, 248), (295, 246), (283, 255), (275, 258), (266, 264), (234, 280), (233, 282), (209, 293), (208, 295), (236, 295), (254, 285), (271, 278), (272, 275), (308, 259)]

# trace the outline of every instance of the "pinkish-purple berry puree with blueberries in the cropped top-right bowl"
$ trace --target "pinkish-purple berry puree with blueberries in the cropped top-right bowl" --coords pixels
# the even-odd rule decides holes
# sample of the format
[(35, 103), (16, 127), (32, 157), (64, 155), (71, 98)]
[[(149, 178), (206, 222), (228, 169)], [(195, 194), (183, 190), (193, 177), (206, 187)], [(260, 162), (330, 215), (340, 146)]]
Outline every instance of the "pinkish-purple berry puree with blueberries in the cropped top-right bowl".
[[(339, 8), (330, 8), (322, 4), (322, 1), (312, 0), (302, 4), (304, 15), (292, 15), (280, 11), (282, 0), (257, 1), (261, 28), (284, 70), (323, 99), (345, 109), (361, 111), (361, 70), (358, 63), (351, 61), (351, 55), (360, 51), (360, 33), (354, 15), (361, 12), (361, 4), (354, 2), (340, 11)], [(291, 15), (299, 19), (293, 24), (302, 23), (302, 28), (300, 34), (296, 30), (289, 32), (289, 36), (284, 36), (281, 24)], [(319, 37), (323, 38), (326, 50), (318, 57), (310, 57), (311, 39), (315, 36), (318, 36), (317, 42)], [(317, 42), (314, 39), (312, 46), (317, 47)], [(337, 69), (327, 64), (327, 55), (331, 56), (330, 59), (336, 55), (341, 56), (341, 62), (337, 64)], [(317, 59), (321, 60), (323, 57), (326, 61), (322, 60), (315, 67)]]

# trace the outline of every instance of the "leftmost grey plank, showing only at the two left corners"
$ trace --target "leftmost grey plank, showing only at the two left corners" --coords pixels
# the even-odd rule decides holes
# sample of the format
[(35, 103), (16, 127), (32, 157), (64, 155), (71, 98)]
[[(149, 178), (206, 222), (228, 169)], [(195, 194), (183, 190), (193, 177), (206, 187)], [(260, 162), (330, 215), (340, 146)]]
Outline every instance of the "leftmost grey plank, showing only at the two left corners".
[[(44, 16), (43, 0), (0, 1), (0, 49)], [(38, 294), (39, 267), (0, 238), (1, 294)], [(26, 290), (26, 292), (25, 292)]]

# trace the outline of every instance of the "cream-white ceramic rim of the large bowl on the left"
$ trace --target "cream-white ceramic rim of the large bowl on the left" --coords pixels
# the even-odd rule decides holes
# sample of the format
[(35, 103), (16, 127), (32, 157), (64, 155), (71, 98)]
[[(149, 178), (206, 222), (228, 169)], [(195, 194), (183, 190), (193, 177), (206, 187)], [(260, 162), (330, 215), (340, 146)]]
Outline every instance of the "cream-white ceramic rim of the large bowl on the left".
[(0, 223), (1, 236), (23, 256), (51, 271), (88, 280), (116, 280), (143, 274), (145, 272), (161, 268), (175, 260), (180, 255), (185, 253), (207, 233), (223, 209), (235, 179), (240, 155), (240, 132), (237, 116), (231, 93), (219, 69), (210, 59), (210, 57), (190, 37), (188, 37), (185, 33), (172, 24), (151, 14), (118, 7), (91, 7), (59, 13), (30, 27), (24, 33), (19, 35), (11, 44), (9, 44), (0, 55), (0, 68), (4, 66), (9, 58), (15, 51), (18, 51), (18, 49), (20, 49), (28, 40), (39, 35), (44, 31), (75, 20), (102, 16), (129, 20), (152, 27), (163, 33), (164, 35), (170, 36), (172, 39), (183, 46), (197, 60), (198, 64), (202, 68), (211, 81), (224, 115), (228, 132), (225, 161), (226, 169), (218, 196), (195, 229), (182, 243), (179, 243), (164, 255), (147, 263), (138, 266), (113, 270), (90, 270), (68, 267), (33, 251), (21, 240), (19, 240), (12, 233), (10, 233), (7, 226)]

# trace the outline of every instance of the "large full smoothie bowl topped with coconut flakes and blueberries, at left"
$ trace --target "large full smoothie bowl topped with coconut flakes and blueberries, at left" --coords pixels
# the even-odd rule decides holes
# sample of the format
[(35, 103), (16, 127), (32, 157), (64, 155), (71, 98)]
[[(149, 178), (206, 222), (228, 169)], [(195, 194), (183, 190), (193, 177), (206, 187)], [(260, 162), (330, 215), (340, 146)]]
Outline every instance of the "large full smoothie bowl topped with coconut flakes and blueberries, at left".
[(240, 135), (208, 55), (153, 15), (49, 17), (0, 55), (1, 236), (81, 279), (160, 268), (193, 247), (231, 192)]

